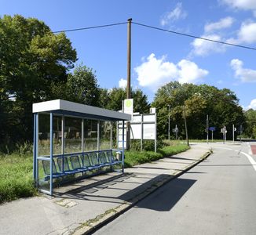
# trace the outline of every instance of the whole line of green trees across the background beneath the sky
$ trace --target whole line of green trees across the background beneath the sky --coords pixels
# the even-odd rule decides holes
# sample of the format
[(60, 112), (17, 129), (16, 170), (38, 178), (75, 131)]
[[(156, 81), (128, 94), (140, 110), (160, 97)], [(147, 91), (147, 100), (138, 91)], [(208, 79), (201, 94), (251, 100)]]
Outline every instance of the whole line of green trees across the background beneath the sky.
[[(96, 72), (79, 64), (77, 52), (66, 34), (53, 34), (42, 21), (20, 15), (0, 18), (0, 145), (31, 141), (32, 103), (66, 99), (110, 110), (121, 110), (125, 89), (103, 89)], [(254, 120), (251, 110), (243, 112), (236, 94), (210, 85), (181, 85), (177, 81), (161, 87), (150, 104), (141, 89), (132, 89), (134, 112), (157, 108), (158, 136), (166, 138), (170, 105), (171, 127), (178, 125), (185, 137), (186, 110), (190, 138), (205, 137), (206, 115), (210, 125), (221, 128)], [(245, 125), (244, 125), (245, 126)], [(251, 122), (251, 132), (255, 135)], [(221, 134), (218, 130), (218, 137)], [(229, 134), (228, 134), (229, 135)], [(252, 135), (252, 134), (251, 134)]]

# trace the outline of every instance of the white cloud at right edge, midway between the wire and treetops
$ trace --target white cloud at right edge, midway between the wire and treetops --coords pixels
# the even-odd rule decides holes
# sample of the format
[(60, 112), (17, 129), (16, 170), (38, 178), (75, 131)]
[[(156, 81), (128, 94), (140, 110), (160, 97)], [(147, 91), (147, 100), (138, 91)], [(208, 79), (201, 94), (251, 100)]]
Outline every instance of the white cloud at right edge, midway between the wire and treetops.
[(233, 59), (230, 62), (230, 66), (235, 71), (236, 78), (243, 82), (256, 82), (256, 71), (243, 68), (243, 61)]

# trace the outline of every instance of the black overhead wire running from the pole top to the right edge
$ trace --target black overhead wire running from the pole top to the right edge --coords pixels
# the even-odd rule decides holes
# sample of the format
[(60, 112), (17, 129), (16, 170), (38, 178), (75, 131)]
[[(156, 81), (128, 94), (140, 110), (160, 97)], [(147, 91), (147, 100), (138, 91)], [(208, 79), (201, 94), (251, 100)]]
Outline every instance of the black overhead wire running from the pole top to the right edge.
[(137, 25), (142, 26), (142, 27), (148, 27), (148, 28), (152, 28), (152, 29), (155, 29), (155, 30), (158, 30), (158, 31), (165, 31), (165, 32), (172, 33), (172, 34), (178, 34), (178, 35), (186, 36), (186, 37), (189, 37), (189, 38), (198, 38), (198, 39), (209, 41), (209, 42), (221, 43), (223, 45), (232, 45), (232, 46), (240, 47), (240, 48), (243, 48), (243, 49), (256, 50), (256, 48), (250, 47), (250, 46), (238, 45), (238, 44), (233, 44), (233, 43), (229, 43), (229, 42), (221, 42), (221, 41), (217, 41), (217, 40), (213, 40), (213, 39), (209, 39), (209, 38), (202, 38), (202, 37), (198, 37), (198, 36), (195, 36), (195, 35), (192, 35), (192, 34), (184, 34), (184, 33), (180, 33), (180, 32), (177, 32), (177, 31), (170, 31), (170, 30), (166, 30), (166, 29), (163, 29), (163, 28), (160, 28), (160, 27), (154, 27), (154, 26), (150, 26), (150, 25), (147, 25), (147, 24), (140, 24), (140, 23), (137, 23), (137, 22), (132, 22), (132, 23), (137, 24)]

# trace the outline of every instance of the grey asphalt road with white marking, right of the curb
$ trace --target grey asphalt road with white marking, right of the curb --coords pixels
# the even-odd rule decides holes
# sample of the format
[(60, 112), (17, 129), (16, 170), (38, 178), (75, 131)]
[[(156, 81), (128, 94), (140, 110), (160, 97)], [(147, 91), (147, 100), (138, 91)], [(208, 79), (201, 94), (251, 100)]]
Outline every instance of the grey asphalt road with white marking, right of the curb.
[(95, 234), (256, 234), (256, 156), (247, 143), (213, 150)]

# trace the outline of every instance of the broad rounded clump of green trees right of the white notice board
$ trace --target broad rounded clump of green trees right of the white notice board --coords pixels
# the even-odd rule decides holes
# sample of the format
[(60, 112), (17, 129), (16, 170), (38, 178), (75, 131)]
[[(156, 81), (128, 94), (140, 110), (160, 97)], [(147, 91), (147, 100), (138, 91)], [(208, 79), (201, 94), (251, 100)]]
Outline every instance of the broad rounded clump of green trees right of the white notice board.
[[(232, 124), (244, 122), (242, 107), (238, 104), (234, 92), (229, 89), (217, 89), (210, 85), (183, 84), (174, 81), (161, 87), (155, 94), (152, 103), (158, 108), (158, 136), (168, 134), (168, 104), (170, 105), (170, 130), (177, 125), (178, 136), (185, 139), (184, 110), (188, 125), (188, 138), (204, 139), (206, 136), (206, 117), (209, 115), (209, 125), (217, 127), (215, 138), (221, 138), (220, 129), (225, 125), (232, 129)], [(172, 138), (174, 134), (170, 133)], [(228, 132), (229, 139), (232, 132)]]

